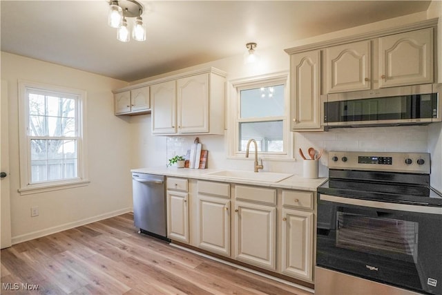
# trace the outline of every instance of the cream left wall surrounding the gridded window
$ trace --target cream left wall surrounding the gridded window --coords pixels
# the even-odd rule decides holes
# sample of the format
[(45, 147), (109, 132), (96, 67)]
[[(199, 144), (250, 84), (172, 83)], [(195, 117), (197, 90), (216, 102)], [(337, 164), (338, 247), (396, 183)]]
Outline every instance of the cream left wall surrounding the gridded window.
[[(1, 79), (8, 83), (12, 243), (130, 211), (131, 128), (113, 115), (112, 89), (125, 82), (44, 61), (1, 53)], [(17, 79), (87, 92), (86, 187), (20, 196)], [(30, 217), (30, 207), (39, 216)]]

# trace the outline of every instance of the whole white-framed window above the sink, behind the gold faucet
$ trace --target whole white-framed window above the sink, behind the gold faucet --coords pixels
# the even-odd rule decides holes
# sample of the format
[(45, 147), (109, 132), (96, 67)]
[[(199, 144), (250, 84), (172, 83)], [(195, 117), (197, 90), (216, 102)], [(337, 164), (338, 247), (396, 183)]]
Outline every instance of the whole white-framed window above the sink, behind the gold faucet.
[[(258, 152), (265, 158), (287, 158), (290, 156), (291, 134), (287, 127), (287, 75), (260, 77), (247, 81), (232, 82), (234, 146), (231, 154), (243, 156), (247, 142), (253, 138)], [(253, 144), (249, 147), (254, 150)]]

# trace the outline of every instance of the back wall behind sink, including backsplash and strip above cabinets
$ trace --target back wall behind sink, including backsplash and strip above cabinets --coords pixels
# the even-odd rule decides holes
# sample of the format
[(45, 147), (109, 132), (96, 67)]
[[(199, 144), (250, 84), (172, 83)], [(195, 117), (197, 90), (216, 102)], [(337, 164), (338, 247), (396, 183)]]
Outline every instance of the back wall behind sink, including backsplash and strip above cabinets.
[[(439, 4), (438, 4), (439, 5)], [(438, 6), (439, 7), (439, 6)], [(432, 10), (435, 10), (432, 8)], [(437, 10), (437, 9), (436, 9)], [(294, 41), (291, 44), (278, 44), (273, 48), (260, 48), (258, 44), (257, 51), (260, 54), (259, 66), (247, 66), (242, 63), (242, 55), (213, 61), (208, 64), (186, 68), (164, 75), (155, 77), (148, 77), (146, 79), (133, 82), (137, 84), (140, 82), (157, 79), (166, 75), (182, 73), (186, 70), (194, 70), (195, 68), (204, 68), (207, 66), (215, 66), (228, 73), (227, 80), (240, 79), (245, 77), (252, 77), (258, 75), (266, 75), (269, 73), (278, 73), (289, 71), (289, 55), (285, 53), (285, 48), (294, 46), (301, 46), (305, 44), (316, 43), (319, 41), (326, 41), (329, 39), (357, 35), (363, 32), (372, 32), (374, 30), (381, 30), (383, 28), (392, 28), (401, 26), (407, 23), (414, 23), (422, 21), (427, 18), (436, 17), (435, 13), (420, 12), (406, 17), (398, 17), (387, 21), (380, 21), (378, 23), (371, 23), (365, 26), (350, 28), (339, 32), (332, 32), (327, 35), (317, 36), (309, 39)], [(441, 30), (439, 30), (440, 32)], [(442, 38), (440, 38), (442, 39)], [(439, 47), (440, 48), (440, 47)], [(440, 61), (439, 61), (440, 65)], [(439, 66), (442, 68), (442, 66)], [(146, 115), (150, 119), (150, 115)], [(138, 119), (133, 119), (135, 121)], [(134, 167), (135, 166), (153, 166), (153, 164), (165, 165), (167, 159), (171, 155), (182, 154), (185, 149), (193, 142), (195, 136), (182, 136), (179, 139), (167, 140), (166, 137), (153, 136), (151, 134), (150, 125), (140, 126), (136, 125), (137, 133), (144, 137), (144, 144), (140, 144), (137, 151), (134, 151)], [(436, 137), (440, 137), (441, 124), (433, 124), (430, 126), (408, 126), (408, 127), (378, 127), (378, 128), (361, 128), (361, 129), (332, 129), (324, 133), (294, 133), (295, 144), (294, 151), (302, 148), (304, 151), (309, 146), (313, 146), (316, 150), (325, 149), (326, 151), (405, 151), (405, 152), (430, 152), (432, 151), (432, 158), (441, 159), (441, 149), (433, 147), (430, 149), (430, 142), (434, 142)], [(169, 137), (170, 138), (170, 137)], [(251, 170), (253, 167), (253, 159), (249, 160), (231, 160), (227, 158), (227, 142), (229, 136), (213, 136), (200, 135), (200, 142), (202, 142), (204, 149), (209, 150), (209, 168), (215, 169), (246, 169)], [(148, 142), (155, 142), (155, 151), (148, 146)], [(431, 144), (432, 146), (435, 144)], [(441, 143), (439, 142), (439, 146)], [(186, 146), (182, 148), (182, 146)], [(149, 154), (146, 151), (150, 151)], [(165, 152), (167, 151), (167, 152)], [(167, 155), (169, 154), (169, 155)], [(298, 158), (298, 154), (295, 153)], [(436, 162), (434, 162), (435, 164)], [(266, 171), (277, 171), (295, 173), (302, 175), (302, 163), (299, 161), (271, 161), (264, 160)], [(436, 165), (434, 165), (436, 166)], [(433, 169), (434, 174), (441, 174), (441, 169)], [(320, 176), (327, 176), (327, 154), (321, 158), (320, 161)], [(439, 187), (441, 184), (434, 178), (434, 184)]]

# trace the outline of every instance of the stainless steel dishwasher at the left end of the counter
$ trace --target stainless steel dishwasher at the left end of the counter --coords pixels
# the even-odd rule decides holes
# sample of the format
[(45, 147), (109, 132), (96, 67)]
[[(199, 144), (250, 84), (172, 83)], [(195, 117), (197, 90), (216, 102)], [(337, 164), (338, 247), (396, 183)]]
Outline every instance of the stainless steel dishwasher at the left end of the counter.
[(140, 233), (166, 237), (166, 196), (164, 176), (132, 173), (133, 220)]

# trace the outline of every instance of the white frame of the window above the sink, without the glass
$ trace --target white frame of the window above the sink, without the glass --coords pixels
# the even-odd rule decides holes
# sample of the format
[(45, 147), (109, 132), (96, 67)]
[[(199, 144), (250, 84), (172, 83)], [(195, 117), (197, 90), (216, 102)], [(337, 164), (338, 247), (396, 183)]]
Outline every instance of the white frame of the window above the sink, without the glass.
[[(282, 152), (261, 152), (258, 151), (260, 158), (264, 160), (295, 160), (294, 159), (294, 134), (289, 128), (289, 73), (273, 73), (245, 79), (236, 79), (228, 82), (229, 97), (227, 102), (227, 141), (230, 159), (241, 159), (245, 157), (245, 151), (239, 151), (239, 124), (240, 122), (260, 122), (256, 118), (240, 119), (240, 91), (267, 87), (273, 85), (284, 85), (284, 115), (278, 117), (266, 117), (262, 122), (271, 120), (282, 120)], [(256, 138), (258, 140), (258, 138)]]

